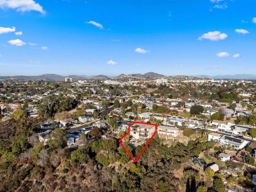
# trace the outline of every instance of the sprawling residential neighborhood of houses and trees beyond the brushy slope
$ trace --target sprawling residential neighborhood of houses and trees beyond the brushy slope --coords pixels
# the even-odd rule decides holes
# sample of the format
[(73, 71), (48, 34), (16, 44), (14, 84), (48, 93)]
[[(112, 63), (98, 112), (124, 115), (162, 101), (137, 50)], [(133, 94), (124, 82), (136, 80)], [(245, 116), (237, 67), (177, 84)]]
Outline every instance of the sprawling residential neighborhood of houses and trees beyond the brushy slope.
[[(88, 142), (109, 140), (115, 140), (120, 148), (118, 140), (128, 131), (122, 143), (131, 150), (145, 145), (153, 135), (161, 144), (184, 145), (184, 150), (192, 143), (192, 148), (202, 143), (197, 151), (190, 149), (192, 160), (186, 162), (202, 174), (202, 179), (208, 168), (222, 174), (226, 188), (235, 187), (227, 183), (230, 176), (239, 183), (239, 174), (246, 174), (249, 167), (255, 170), (250, 174), (256, 174), (254, 81), (199, 81), (185, 76), (149, 81), (130, 80), (133, 77), (128, 76), (129, 80), (124, 81), (124, 77), (114, 78), (118, 83), (2, 81), (2, 120), (39, 121), (36, 137), (48, 150), (57, 146), (81, 150)], [(12, 93), (12, 89), (19, 91)], [(106, 158), (106, 151), (98, 152)], [(247, 180), (254, 185), (253, 177)], [(246, 186), (240, 183), (242, 190)]]

